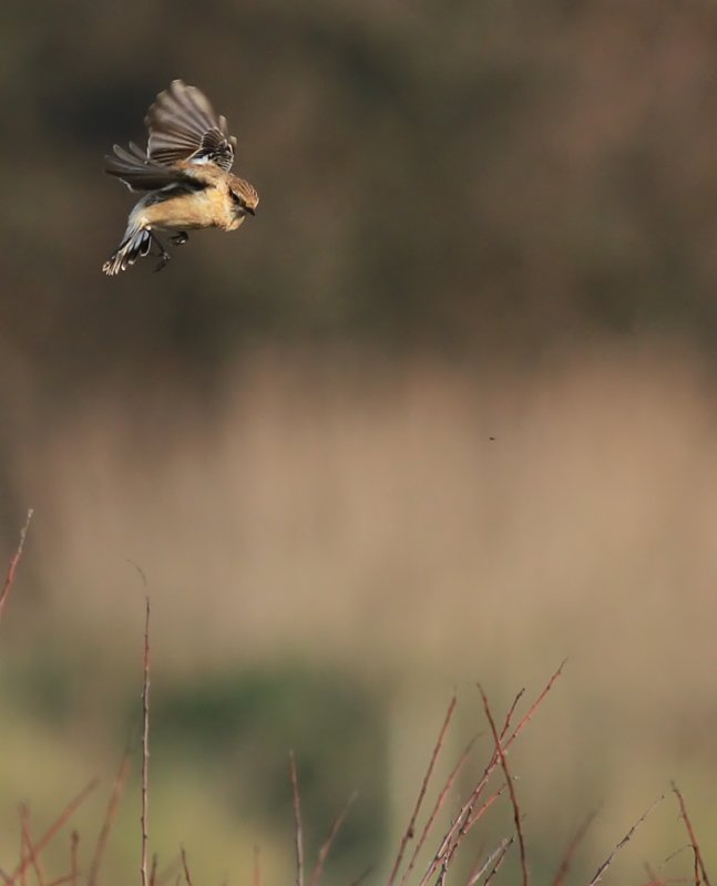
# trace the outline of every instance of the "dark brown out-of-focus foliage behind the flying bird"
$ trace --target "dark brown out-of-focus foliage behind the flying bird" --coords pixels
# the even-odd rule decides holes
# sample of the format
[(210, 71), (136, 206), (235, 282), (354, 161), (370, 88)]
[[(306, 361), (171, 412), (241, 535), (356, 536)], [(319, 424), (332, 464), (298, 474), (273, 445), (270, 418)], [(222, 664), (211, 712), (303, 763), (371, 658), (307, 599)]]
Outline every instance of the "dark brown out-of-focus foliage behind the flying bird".
[[(50, 14), (52, 12), (52, 14)], [(70, 2), (0, 35), (0, 336), (47, 388), (366, 337), (529, 354), (717, 313), (717, 10), (692, 0)], [(239, 138), (258, 217), (99, 272), (101, 172), (172, 78)], [(129, 359), (131, 358), (131, 359)]]

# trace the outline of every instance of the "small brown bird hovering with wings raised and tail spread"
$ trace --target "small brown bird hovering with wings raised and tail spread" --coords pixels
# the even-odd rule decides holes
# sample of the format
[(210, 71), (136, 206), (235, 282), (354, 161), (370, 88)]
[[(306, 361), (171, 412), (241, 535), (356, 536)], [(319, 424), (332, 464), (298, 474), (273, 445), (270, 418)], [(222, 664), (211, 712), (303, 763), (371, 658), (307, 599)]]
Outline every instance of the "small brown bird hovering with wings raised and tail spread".
[(170, 254), (155, 230), (173, 231), (171, 240), (178, 246), (188, 240), (187, 230), (236, 230), (259, 203), (254, 187), (229, 172), (236, 138), (196, 86), (174, 80), (144, 123), (146, 153), (130, 142), (129, 151), (114, 145), (114, 156), (105, 157), (106, 173), (130, 190), (146, 192), (130, 213), (122, 243), (102, 266), (109, 276), (148, 255), (153, 243), (160, 256), (155, 270), (162, 270)]

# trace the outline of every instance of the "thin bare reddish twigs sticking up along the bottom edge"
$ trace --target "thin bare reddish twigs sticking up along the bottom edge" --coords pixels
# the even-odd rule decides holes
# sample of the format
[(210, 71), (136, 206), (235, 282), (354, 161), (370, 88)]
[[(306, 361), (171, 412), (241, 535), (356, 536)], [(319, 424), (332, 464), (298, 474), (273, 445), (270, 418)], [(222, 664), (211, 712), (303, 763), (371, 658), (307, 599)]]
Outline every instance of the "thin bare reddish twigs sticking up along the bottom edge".
[[(4, 607), (10, 597), (10, 593), (16, 581), (18, 566), (23, 554), (25, 536), (32, 518), (32, 511), (28, 513), (25, 525), (21, 532), (20, 542), (14, 556), (10, 560), (8, 574), (0, 593), (0, 617), (3, 614)], [(448, 880), (449, 874), (452, 874), (453, 865), (459, 854), (459, 849), (464, 847), (468, 843), (468, 837), (473, 830), (481, 823), (483, 816), (491, 811), (493, 805), (502, 797), (506, 796), (510, 801), (513, 811), (514, 830), (512, 833), (505, 834), (498, 845), (490, 848), (488, 852), (481, 849), (478, 857), (470, 867), (467, 877), (462, 878), (464, 886), (488, 886), (496, 877), (500, 872), (509, 851), (513, 849), (518, 853), (520, 863), (520, 877), (522, 886), (530, 886), (530, 861), (527, 851), (526, 830), (524, 825), (524, 813), (521, 810), (519, 802), (518, 791), (515, 787), (514, 777), (509, 767), (509, 754), (511, 746), (521, 735), (523, 730), (529, 725), (539, 708), (543, 704), (547, 693), (553, 688), (554, 683), (561, 677), (564, 662), (552, 674), (543, 690), (534, 699), (532, 704), (527, 707), (525, 712), (519, 719), (519, 704), (522, 701), (523, 690), (521, 690), (514, 698), (513, 703), (508, 710), (502, 725), (499, 728), (495, 715), (488, 700), (488, 697), (482, 687), (479, 686), (479, 691), (483, 702), (483, 710), (485, 719), (490, 727), (490, 734), (493, 740), (493, 750), (482, 770), (482, 774), (472, 786), (472, 790), (465, 797), (461, 797), (458, 803), (458, 813), (451, 818), (448, 831), (439, 839), (436, 851), (430, 852), (430, 862), (428, 867), (421, 874), (417, 866), (421, 851), (427, 846), (429, 841), (434, 839), (436, 822), (441, 807), (445, 804), (449, 796), (451, 796), (459, 773), (465, 764), (469, 755), (474, 749), (475, 741), (472, 739), (465, 746), (463, 753), (460, 755), (453, 765), (445, 782), (439, 786), (434, 793), (432, 805), (426, 812), (426, 802), (429, 795), (429, 786), (431, 785), (431, 776), (437, 760), (443, 749), (447, 732), (449, 730), (451, 720), (455, 712), (457, 699), (452, 698), (445, 719), (436, 740), (428, 769), (418, 792), (418, 799), (410, 814), (410, 818), (406, 831), (400, 839), (396, 859), (390, 868), (390, 874), (387, 877), (386, 886), (444, 886)], [(158, 873), (157, 857), (152, 856), (150, 859), (150, 817), (148, 817), (148, 801), (150, 801), (150, 715), (151, 715), (151, 641), (150, 641), (150, 599), (146, 598), (145, 607), (145, 628), (144, 628), (144, 646), (142, 657), (142, 733), (141, 733), (141, 814), (140, 814), (140, 841), (141, 841), (141, 865), (140, 876), (142, 886), (161, 886), (162, 883), (167, 882), (173, 874), (174, 868), (177, 866), (173, 864), (167, 872), (163, 875)], [(516, 722), (515, 722), (516, 721)], [(86, 867), (81, 868), (80, 863), (80, 835), (76, 831), (72, 831), (69, 838), (68, 848), (68, 866), (69, 870), (60, 875), (48, 874), (43, 864), (43, 852), (48, 844), (53, 839), (60, 839), (61, 832), (69, 825), (76, 808), (84, 803), (92, 791), (98, 786), (98, 782), (90, 782), (75, 797), (73, 797), (66, 806), (60, 812), (57, 818), (52, 822), (49, 828), (40, 836), (35, 837), (30, 821), (30, 807), (28, 804), (22, 803), (19, 807), (20, 820), (20, 857), (13, 867), (0, 866), (0, 879), (4, 886), (25, 886), (30, 876), (35, 880), (37, 886), (62, 886), (63, 884), (71, 884), (71, 886), (79, 886), (85, 883), (86, 886), (96, 886), (101, 882), (101, 865), (103, 862), (104, 852), (107, 841), (111, 835), (112, 824), (116, 815), (117, 806), (122, 797), (124, 783), (129, 774), (131, 748), (127, 748), (116, 775), (114, 787), (110, 794), (106, 804), (105, 813), (102, 818), (101, 826), (98, 832), (94, 845), (91, 849), (89, 861), (85, 863)], [(301, 800), (299, 791), (299, 780), (297, 774), (297, 766), (294, 755), (289, 756), (289, 773), (294, 796), (294, 816), (295, 816), (295, 844), (296, 844), (296, 886), (305, 886), (305, 857), (304, 857), (304, 830), (301, 818)], [(502, 775), (499, 783), (495, 783), (493, 776), (495, 774)], [(675, 876), (663, 876), (655, 873), (656, 868), (649, 865), (645, 866), (648, 880), (645, 886), (667, 886), (672, 883), (694, 883), (695, 886), (710, 886), (709, 877), (705, 867), (705, 862), (700, 845), (698, 843), (693, 823), (687, 813), (684, 797), (678, 787), (673, 783), (672, 791), (677, 799), (679, 806), (679, 816), (684, 822), (685, 830), (688, 836), (688, 846), (692, 849), (693, 864), (692, 864), (692, 878)], [(616, 854), (621, 852), (629, 843), (637, 828), (645, 822), (653, 808), (664, 800), (659, 797), (656, 800), (631, 826), (627, 833), (616, 844), (613, 852), (598, 865), (594, 876), (591, 878), (587, 886), (595, 886), (606, 875)], [(348, 812), (348, 805), (341, 811), (336, 818), (331, 832), (322, 844), (316, 863), (310, 873), (309, 886), (319, 886), (324, 865), (330, 852), (331, 845), (336, 835), (341, 827), (341, 824)], [(563, 854), (562, 862), (552, 880), (552, 886), (562, 886), (567, 878), (571, 866), (571, 861), (577, 844), (583, 839), (587, 827), (590, 826), (593, 814), (576, 828), (575, 835), (569, 843), (567, 848)], [(516, 846), (516, 849), (514, 848)], [(411, 847), (411, 848), (410, 848)], [(409, 852), (410, 848), (410, 852)], [(682, 849), (682, 847), (679, 847)], [(679, 852), (672, 853), (662, 863), (663, 865), (670, 862)], [(186, 886), (194, 886), (187, 854), (184, 847), (180, 851), (181, 868), (180, 873), (175, 875), (175, 882), (178, 885), (184, 878)], [(660, 865), (662, 866), (662, 865)], [(370, 870), (365, 872), (356, 883), (369, 875)], [(513, 875), (514, 877), (515, 875)], [(127, 878), (127, 873), (122, 875), (123, 879)], [(453, 877), (451, 877), (453, 879)], [(262, 870), (259, 865), (259, 855), (255, 853), (255, 886), (262, 884)]]

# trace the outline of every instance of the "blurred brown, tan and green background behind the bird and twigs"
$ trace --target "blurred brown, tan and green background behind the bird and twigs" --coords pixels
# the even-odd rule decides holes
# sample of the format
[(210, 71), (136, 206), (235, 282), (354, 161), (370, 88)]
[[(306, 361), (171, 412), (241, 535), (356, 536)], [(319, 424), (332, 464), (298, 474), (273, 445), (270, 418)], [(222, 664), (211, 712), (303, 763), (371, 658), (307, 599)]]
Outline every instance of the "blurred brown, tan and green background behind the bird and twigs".
[[(670, 779), (715, 870), (715, 4), (3, 21), (3, 563), (35, 516), (0, 626), (0, 865), (19, 801), (39, 833), (99, 774), (94, 839), (148, 593), (161, 867), (184, 844), (196, 882), (242, 883), (259, 844), (291, 878), (294, 749), (309, 857), (356, 790), (327, 882), (380, 882), (453, 690), (447, 765), (484, 729), (475, 681), (500, 719), (567, 657), (512, 760), (534, 874), (600, 808), (584, 880)], [(102, 157), (174, 78), (262, 204), (107, 279), (133, 197)], [(134, 763), (111, 884), (139, 864)], [(511, 830), (505, 804), (474, 852)], [(663, 804), (613, 880), (686, 843)]]

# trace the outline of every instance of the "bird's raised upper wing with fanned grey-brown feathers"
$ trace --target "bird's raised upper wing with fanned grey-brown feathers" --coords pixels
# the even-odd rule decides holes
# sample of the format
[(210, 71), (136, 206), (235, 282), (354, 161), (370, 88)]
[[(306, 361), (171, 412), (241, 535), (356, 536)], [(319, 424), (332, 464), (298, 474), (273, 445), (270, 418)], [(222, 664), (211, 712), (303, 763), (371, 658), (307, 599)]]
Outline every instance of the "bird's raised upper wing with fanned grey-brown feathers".
[(150, 131), (150, 161), (163, 166), (188, 161), (212, 163), (227, 172), (232, 168), (236, 138), (228, 133), (226, 117), (215, 114), (196, 86), (173, 80), (157, 95), (144, 122)]

